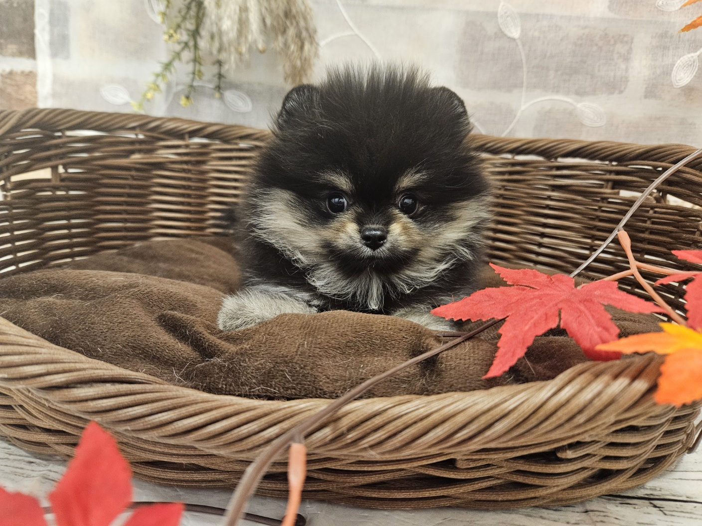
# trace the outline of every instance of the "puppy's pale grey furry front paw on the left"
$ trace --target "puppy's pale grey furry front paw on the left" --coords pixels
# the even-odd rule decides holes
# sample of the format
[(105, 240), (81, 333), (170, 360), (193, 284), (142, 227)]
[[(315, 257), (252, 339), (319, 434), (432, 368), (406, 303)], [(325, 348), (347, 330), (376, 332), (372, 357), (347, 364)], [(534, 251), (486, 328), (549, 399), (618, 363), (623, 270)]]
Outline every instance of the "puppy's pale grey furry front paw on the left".
[(217, 315), (220, 330), (253, 327), (284, 313), (314, 314), (317, 309), (289, 295), (248, 288), (225, 297)]

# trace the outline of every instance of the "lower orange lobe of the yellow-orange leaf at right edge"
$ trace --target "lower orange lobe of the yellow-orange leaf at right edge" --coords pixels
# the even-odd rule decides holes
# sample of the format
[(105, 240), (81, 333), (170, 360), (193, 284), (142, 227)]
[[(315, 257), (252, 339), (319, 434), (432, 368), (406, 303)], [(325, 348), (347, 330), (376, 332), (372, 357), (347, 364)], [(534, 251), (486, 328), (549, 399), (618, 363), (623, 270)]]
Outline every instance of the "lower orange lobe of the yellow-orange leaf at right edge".
[(680, 407), (702, 398), (702, 349), (681, 349), (665, 357), (654, 400)]

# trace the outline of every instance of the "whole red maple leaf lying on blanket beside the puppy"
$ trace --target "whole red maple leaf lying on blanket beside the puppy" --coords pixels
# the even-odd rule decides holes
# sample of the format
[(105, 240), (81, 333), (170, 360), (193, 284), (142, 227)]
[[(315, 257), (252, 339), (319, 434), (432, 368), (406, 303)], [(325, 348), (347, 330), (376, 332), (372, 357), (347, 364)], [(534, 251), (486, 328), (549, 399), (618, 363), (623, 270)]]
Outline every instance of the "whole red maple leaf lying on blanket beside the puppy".
[(485, 378), (501, 375), (524, 356), (534, 338), (560, 326), (593, 360), (616, 360), (618, 352), (596, 351), (595, 346), (611, 342), (619, 328), (611, 321), (603, 304), (630, 312), (663, 312), (655, 304), (627, 294), (614, 281), (594, 281), (575, 286), (563, 274), (549, 276), (536, 270), (504, 269), (490, 264), (514, 287), (486, 288), (458, 302), (439, 306), (437, 316), (453, 320), (507, 318), (500, 330), (498, 351)]

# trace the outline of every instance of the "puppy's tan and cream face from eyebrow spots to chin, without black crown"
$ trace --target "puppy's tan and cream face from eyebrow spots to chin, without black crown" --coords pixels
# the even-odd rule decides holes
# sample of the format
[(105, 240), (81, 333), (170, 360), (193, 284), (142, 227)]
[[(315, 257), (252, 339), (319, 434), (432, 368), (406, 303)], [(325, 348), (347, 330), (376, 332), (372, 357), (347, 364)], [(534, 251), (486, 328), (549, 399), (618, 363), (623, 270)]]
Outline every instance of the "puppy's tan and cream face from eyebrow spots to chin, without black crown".
[(256, 226), (305, 267), (333, 262), (350, 276), (430, 269), (448, 252), (468, 255), (485, 219), (484, 196), (454, 201), (450, 191), (420, 167), (353, 177), (330, 166), (304, 188), (261, 192)]

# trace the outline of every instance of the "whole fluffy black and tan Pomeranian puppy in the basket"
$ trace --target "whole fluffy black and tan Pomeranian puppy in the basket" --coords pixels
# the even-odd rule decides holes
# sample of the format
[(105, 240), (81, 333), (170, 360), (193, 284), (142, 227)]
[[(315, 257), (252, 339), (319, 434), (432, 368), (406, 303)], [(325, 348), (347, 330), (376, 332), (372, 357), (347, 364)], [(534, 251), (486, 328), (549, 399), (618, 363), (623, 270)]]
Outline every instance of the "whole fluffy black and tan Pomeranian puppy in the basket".
[(222, 330), (282, 313), (430, 310), (477, 288), (489, 187), (461, 97), (415, 68), (333, 69), (293, 88), (239, 215), (244, 286)]

